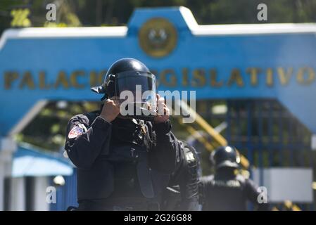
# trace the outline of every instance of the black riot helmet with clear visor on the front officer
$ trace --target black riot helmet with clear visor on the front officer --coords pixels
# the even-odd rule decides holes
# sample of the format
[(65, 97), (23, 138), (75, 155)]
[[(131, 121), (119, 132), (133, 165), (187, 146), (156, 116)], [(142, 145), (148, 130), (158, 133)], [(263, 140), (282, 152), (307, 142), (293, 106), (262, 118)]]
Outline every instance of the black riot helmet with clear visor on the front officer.
[[(126, 109), (133, 108), (132, 113), (129, 111), (127, 114), (129, 117), (153, 120), (156, 113), (156, 77), (144, 63), (137, 59), (122, 58), (117, 60), (108, 69), (103, 84), (94, 86), (91, 90), (104, 94), (101, 100), (113, 96), (120, 97), (122, 94), (124, 99), (120, 98), (120, 100), (121, 102), (125, 101)], [(126, 91), (132, 96), (125, 96)], [(129, 98), (127, 96), (133, 97), (131, 98), (132, 101), (127, 99)], [(120, 113), (122, 114), (122, 112)]]

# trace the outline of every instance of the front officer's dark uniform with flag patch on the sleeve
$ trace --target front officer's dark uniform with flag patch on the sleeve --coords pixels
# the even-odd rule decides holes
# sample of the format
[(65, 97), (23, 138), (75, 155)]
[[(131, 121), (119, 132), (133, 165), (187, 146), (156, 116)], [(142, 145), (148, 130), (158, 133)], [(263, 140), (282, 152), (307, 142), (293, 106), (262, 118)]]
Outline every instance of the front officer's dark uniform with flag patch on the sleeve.
[(162, 191), (181, 160), (170, 121), (109, 123), (99, 113), (68, 122), (65, 150), (77, 166), (79, 209), (159, 210)]

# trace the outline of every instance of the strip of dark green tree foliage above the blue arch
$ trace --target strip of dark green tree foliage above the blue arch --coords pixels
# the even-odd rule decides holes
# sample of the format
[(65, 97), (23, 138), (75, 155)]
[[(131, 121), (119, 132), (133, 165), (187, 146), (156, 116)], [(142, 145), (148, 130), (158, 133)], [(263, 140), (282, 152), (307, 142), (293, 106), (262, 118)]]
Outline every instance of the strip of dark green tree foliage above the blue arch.
[[(47, 23), (46, 5), (57, 6), (56, 23)], [(258, 4), (268, 20), (257, 20)], [(137, 7), (186, 6), (199, 24), (316, 22), (316, 0), (1, 0), (0, 31), (10, 27), (11, 10), (27, 7), (34, 27), (125, 25)]]

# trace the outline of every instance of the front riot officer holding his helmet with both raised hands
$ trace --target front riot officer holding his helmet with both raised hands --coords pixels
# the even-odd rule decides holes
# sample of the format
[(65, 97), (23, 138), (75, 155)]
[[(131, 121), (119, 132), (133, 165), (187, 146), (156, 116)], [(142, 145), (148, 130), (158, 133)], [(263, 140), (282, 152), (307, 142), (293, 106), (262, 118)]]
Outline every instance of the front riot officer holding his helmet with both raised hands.
[[(141, 99), (135, 97), (137, 86)], [(162, 192), (179, 161), (179, 142), (170, 131), (164, 99), (156, 97), (155, 76), (139, 60), (122, 58), (92, 91), (104, 94), (101, 110), (72, 117), (65, 143), (77, 167), (79, 210), (160, 210)], [(120, 99), (122, 91), (135, 99)], [(129, 107), (141, 114), (130, 113)], [(163, 114), (155, 114), (157, 108)]]

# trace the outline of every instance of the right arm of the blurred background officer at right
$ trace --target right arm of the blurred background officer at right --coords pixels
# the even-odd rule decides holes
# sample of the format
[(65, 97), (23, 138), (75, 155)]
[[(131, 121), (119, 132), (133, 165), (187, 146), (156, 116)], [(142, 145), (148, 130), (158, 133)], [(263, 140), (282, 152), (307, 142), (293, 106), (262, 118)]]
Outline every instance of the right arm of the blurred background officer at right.
[(267, 196), (263, 196), (267, 193), (260, 193), (258, 190), (258, 186), (255, 185), (251, 179), (246, 179), (246, 187), (245, 187), (246, 195), (248, 200), (251, 201), (259, 211), (267, 211), (270, 210), (270, 204), (265, 202), (267, 200)]

